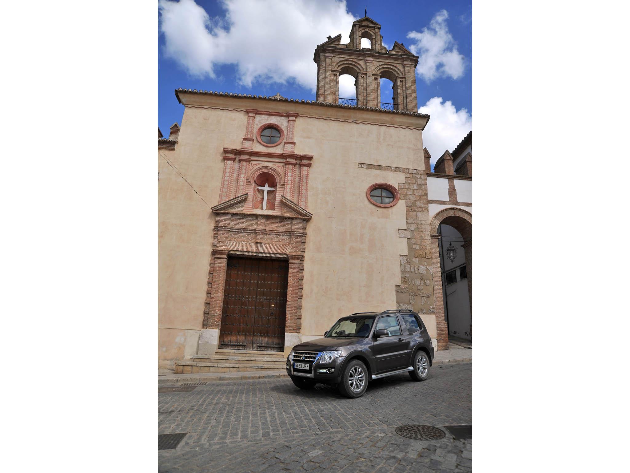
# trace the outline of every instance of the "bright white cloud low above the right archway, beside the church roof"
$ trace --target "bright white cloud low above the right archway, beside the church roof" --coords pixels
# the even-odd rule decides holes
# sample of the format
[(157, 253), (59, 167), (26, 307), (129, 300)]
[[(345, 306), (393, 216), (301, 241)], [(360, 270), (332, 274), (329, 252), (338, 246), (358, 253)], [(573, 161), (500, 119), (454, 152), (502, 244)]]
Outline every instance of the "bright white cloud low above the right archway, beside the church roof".
[(442, 97), (433, 97), (418, 113), (429, 114), (431, 118), (422, 132), (422, 141), (431, 154), (431, 163), (444, 154), (447, 149), (453, 151), (455, 146), (473, 129), (473, 117), (466, 108), (459, 111), (450, 102), (442, 103)]

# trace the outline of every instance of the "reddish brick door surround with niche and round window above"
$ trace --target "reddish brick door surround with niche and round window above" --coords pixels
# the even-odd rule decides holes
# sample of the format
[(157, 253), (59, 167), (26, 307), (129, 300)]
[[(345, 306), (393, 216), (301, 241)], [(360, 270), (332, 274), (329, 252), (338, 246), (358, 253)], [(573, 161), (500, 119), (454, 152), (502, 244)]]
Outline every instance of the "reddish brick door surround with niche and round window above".
[[(300, 155), (295, 149), (295, 124), (299, 114), (246, 109), (246, 126), (241, 148), (223, 148), (224, 161), (219, 204), (212, 207), (212, 230), (208, 284), (203, 330), (217, 344), (221, 330), (227, 258), (231, 255), (282, 259), (289, 263), (285, 339), (299, 336), (302, 319), (302, 281), (307, 211), (308, 182), (312, 155)], [(273, 126), (281, 138), (275, 148), (256, 148), (260, 130)], [(252, 206), (255, 180), (261, 173), (275, 178), (274, 206), (270, 210)], [(202, 340), (200, 339), (200, 346)], [(214, 348), (210, 348), (213, 351)]]

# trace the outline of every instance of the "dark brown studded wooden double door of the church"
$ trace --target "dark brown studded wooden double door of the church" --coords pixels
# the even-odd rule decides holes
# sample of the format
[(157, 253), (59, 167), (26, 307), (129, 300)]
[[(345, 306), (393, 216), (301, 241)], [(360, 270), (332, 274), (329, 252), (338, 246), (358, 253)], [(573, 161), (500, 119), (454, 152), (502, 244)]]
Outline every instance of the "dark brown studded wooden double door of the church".
[(289, 262), (228, 257), (219, 346), (284, 351)]

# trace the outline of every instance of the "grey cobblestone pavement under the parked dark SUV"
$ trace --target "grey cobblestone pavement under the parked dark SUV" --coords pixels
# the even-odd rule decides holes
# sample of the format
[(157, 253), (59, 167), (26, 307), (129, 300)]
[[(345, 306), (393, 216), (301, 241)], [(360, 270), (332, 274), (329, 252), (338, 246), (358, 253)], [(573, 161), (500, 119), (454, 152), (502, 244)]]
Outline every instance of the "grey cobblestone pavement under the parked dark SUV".
[[(429, 378), (370, 381), (358, 399), (334, 387), (300, 390), (288, 378), (213, 382), (158, 395), (158, 433), (188, 432), (159, 450), (160, 472), (469, 472), (472, 440), (445, 425), (472, 424), (472, 363), (433, 366)], [(441, 428), (441, 440), (396, 427)]]

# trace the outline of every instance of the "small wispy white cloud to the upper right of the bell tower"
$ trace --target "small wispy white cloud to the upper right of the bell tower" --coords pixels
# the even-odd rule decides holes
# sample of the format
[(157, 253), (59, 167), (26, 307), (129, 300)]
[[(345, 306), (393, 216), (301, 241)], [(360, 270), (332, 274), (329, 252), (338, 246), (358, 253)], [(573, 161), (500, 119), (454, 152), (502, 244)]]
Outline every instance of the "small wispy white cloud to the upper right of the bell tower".
[(407, 33), (408, 38), (415, 40), (409, 49), (420, 57), (416, 73), (427, 83), (438, 77), (459, 79), (464, 75), (466, 58), (457, 50), (457, 43), (446, 24), (447, 18), (449, 13), (440, 10), (422, 32)]

